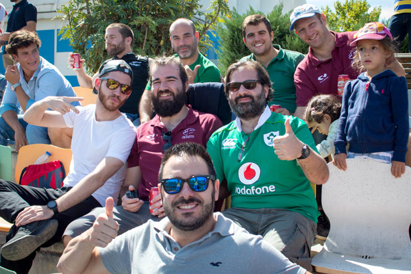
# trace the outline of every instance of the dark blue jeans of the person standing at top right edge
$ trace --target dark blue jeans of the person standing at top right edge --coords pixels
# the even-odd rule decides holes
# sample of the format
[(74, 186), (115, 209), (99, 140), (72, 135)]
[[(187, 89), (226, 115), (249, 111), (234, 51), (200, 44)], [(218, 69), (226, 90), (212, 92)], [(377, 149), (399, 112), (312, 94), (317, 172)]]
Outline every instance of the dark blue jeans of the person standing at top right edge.
[(411, 52), (411, 13), (393, 15), (388, 28), (393, 38), (399, 42), (399, 47), (408, 34), (408, 52)]

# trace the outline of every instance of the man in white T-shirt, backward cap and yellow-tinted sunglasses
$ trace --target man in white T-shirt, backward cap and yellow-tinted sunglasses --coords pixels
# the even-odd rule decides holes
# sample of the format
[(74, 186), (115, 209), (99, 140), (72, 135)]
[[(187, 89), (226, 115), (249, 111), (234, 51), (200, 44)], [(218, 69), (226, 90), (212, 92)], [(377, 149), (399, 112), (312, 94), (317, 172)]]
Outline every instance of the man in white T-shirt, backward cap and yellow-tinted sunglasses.
[(108, 197), (117, 200), (125, 161), (136, 138), (134, 125), (119, 111), (131, 85), (129, 65), (112, 60), (96, 79), (96, 105), (75, 108), (70, 103), (80, 98), (46, 97), (27, 110), (27, 123), (73, 127), (73, 159), (62, 188), (33, 188), (0, 180), (0, 216), (14, 223), (1, 248), (1, 266), (28, 273), (36, 250), (59, 242), (71, 221), (104, 206)]

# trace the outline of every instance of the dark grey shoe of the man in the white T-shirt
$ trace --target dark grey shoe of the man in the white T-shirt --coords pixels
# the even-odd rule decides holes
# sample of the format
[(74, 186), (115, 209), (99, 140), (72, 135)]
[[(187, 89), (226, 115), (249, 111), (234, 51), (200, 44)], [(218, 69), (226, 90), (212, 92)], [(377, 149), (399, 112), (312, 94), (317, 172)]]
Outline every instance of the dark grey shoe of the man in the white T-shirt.
[(6, 260), (22, 260), (50, 240), (57, 231), (54, 219), (36, 221), (17, 228), (16, 235), (1, 247), (1, 256)]

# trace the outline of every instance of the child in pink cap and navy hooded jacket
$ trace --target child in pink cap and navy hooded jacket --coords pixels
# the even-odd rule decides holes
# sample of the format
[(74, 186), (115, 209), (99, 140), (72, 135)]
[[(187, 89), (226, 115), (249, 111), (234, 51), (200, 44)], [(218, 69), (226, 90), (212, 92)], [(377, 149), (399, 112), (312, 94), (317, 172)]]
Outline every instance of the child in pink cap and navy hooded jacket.
[(401, 177), (409, 134), (408, 89), (405, 77), (384, 69), (395, 53), (393, 36), (382, 23), (373, 22), (366, 23), (354, 38), (350, 44), (357, 47), (353, 66), (366, 72), (344, 88), (334, 164), (345, 171), (346, 158), (372, 158), (390, 163), (391, 173)]

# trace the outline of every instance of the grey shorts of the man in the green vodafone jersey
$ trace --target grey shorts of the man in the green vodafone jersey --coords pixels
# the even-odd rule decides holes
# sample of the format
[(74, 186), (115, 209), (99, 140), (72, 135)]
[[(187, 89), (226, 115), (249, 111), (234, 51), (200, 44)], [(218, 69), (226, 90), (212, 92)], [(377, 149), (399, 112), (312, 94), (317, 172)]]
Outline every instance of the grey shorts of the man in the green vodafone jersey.
[(261, 235), (291, 262), (312, 271), (310, 247), (316, 236), (316, 223), (310, 219), (274, 208), (228, 208), (223, 214), (249, 233)]

